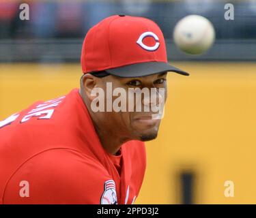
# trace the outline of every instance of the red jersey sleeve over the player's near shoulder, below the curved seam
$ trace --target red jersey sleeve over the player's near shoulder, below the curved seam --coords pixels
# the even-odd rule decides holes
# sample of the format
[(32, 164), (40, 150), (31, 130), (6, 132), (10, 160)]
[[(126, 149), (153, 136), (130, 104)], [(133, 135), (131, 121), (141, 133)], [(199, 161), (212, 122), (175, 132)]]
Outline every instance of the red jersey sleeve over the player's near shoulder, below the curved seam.
[(3, 203), (100, 204), (104, 184), (111, 180), (93, 157), (72, 149), (51, 149), (16, 170), (5, 187)]

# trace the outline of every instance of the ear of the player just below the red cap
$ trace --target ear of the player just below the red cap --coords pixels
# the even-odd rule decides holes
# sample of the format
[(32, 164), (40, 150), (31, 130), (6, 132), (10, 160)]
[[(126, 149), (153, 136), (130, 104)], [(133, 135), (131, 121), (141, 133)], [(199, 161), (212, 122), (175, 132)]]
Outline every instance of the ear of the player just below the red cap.
[(98, 87), (98, 78), (91, 74), (84, 74), (81, 78), (81, 86), (83, 86), (83, 91), (85, 95), (92, 101), (95, 97), (91, 96), (91, 91)]

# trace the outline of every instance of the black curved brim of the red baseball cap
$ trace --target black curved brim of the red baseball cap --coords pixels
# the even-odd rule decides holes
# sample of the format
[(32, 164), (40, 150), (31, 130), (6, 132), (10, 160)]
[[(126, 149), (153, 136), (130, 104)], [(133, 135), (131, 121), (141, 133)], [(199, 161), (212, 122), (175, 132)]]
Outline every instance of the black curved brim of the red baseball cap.
[(111, 75), (119, 77), (140, 77), (149, 76), (152, 74), (159, 74), (162, 72), (175, 72), (177, 74), (182, 74), (184, 76), (189, 76), (187, 72), (184, 72), (177, 67), (173, 67), (165, 62), (144, 62), (144, 63), (134, 63), (131, 65), (125, 65), (122, 67), (116, 67), (112, 69), (105, 69)]

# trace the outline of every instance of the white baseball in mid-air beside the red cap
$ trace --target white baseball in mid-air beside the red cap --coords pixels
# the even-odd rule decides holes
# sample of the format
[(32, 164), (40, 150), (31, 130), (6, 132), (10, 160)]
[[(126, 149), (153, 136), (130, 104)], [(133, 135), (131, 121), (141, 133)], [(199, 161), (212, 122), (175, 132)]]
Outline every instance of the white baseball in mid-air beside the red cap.
[(175, 25), (173, 39), (180, 50), (190, 55), (200, 55), (214, 43), (215, 31), (207, 18), (188, 15)]

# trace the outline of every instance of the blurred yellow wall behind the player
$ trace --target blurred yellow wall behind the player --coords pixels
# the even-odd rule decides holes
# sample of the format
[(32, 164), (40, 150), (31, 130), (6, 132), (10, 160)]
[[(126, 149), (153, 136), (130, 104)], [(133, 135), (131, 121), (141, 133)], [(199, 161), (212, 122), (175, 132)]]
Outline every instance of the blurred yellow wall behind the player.
[[(256, 64), (175, 63), (165, 118), (147, 142), (147, 172), (137, 204), (180, 202), (177, 172), (196, 173), (195, 202), (256, 204)], [(38, 99), (79, 87), (79, 64), (0, 65), (0, 119)], [(235, 196), (224, 196), (224, 182)]]

